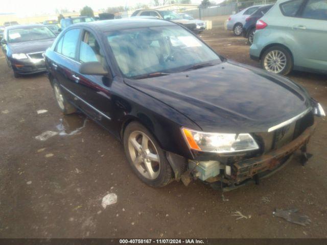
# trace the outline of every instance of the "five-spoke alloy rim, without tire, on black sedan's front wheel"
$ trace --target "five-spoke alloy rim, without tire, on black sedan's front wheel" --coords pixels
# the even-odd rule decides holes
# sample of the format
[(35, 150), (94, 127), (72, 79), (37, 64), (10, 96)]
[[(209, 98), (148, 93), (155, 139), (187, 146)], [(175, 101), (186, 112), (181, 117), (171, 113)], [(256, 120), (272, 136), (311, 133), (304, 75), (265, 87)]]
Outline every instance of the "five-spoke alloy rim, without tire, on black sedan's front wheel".
[(128, 137), (128, 152), (138, 172), (149, 180), (160, 173), (160, 159), (151, 139), (141, 131), (134, 131)]

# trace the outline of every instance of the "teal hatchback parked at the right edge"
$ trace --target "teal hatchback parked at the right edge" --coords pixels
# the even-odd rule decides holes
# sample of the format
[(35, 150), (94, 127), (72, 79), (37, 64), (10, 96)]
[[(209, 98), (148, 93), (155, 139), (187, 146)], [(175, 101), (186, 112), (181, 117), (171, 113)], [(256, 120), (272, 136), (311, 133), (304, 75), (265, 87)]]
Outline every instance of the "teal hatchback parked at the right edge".
[(327, 0), (281, 0), (258, 22), (250, 56), (275, 74), (327, 74)]

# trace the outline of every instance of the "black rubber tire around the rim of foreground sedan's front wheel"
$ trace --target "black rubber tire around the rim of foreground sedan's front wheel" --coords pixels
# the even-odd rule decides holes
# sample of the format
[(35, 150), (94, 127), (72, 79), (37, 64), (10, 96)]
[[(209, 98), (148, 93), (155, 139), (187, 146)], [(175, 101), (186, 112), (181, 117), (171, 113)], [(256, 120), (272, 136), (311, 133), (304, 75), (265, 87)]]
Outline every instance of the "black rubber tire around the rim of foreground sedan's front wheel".
[[(145, 178), (139, 171), (136, 169), (136, 167), (133, 164), (133, 161), (131, 159), (131, 156), (129, 154), (128, 150), (128, 138), (130, 134), (134, 131), (141, 131), (144, 132), (152, 141), (154, 144), (158, 155), (159, 155), (159, 161), (160, 161), (160, 172), (156, 179), (150, 180)], [(170, 180), (172, 179), (172, 169), (171, 166), (165, 156), (164, 151), (161, 150), (157, 140), (153, 137), (153, 135), (142, 125), (139, 124), (136, 121), (130, 122), (130, 124), (126, 127), (124, 136), (123, 136), (123, 142), (124, 142), (124, 151), (125, 155), (127, 157), (127, 160), (132, 167), (134, 173), (137, 175), (139, 179), (141, 179), (143, 182), (145, 182), (147, 185), (150, 185), (152, 187), (163, 187), (167, 184), (169, 184)]]

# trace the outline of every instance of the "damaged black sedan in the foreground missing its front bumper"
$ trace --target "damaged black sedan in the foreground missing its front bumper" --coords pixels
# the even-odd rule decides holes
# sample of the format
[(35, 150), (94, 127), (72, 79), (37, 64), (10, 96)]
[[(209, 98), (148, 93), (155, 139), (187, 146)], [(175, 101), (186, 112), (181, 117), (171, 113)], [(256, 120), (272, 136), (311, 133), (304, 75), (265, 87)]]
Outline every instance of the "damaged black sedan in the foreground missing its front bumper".
[(258, 182), (296, 150), (307, 156), (314, 115), (324, 114), (300, 85), (227, 61), (170, 21), (75, 24), (45, 58), (61, 111), (78, 109), (120, 139), (155, 187)]

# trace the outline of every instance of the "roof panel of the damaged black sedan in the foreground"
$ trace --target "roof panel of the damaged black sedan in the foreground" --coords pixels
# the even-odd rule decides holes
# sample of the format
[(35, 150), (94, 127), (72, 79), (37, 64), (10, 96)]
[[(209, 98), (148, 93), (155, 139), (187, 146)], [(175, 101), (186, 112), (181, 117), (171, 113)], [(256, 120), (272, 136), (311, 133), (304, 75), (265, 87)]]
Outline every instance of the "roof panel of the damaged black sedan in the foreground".
[(145, 27), (158, 27), (158, 26), (174, 26), (173, 22), (161, 19), (150, 18), (123, 18), (123, 19), (109, 19), (92, 22), (76, 23), (72, 26), (84, 26), (96, 29), (100, 32), (110, 32), (116, 30), (126, 30)]

